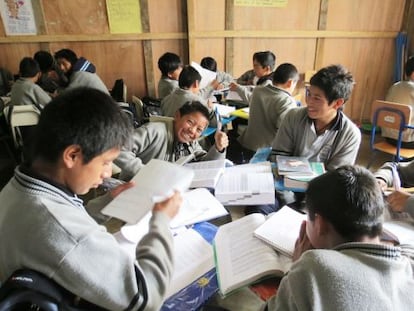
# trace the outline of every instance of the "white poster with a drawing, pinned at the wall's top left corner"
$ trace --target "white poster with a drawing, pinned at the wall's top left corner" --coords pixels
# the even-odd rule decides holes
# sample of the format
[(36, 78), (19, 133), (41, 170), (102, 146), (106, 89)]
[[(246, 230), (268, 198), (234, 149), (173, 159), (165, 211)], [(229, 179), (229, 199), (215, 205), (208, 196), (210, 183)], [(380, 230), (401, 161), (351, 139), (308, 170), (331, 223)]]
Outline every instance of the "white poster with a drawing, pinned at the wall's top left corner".
[(31, 0), (0, 0), (6, 35), (35, 35), (36, 23)]

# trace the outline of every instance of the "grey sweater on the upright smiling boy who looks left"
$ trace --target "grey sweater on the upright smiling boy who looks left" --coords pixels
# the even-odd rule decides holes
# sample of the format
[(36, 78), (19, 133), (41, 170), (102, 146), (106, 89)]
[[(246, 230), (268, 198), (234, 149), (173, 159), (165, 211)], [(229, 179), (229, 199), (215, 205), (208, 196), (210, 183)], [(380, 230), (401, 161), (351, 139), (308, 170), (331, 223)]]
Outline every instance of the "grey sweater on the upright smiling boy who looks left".
[(272, 148), (276, 154), (306, 157), (309, 161), (323, 162), (327, 170), (333, 170), (353, 165), (360, 143), (360, 130), (342, 111), (338, 111), (330, 129), (317, 135), (313, 120), (303, 107), (289, 110)]

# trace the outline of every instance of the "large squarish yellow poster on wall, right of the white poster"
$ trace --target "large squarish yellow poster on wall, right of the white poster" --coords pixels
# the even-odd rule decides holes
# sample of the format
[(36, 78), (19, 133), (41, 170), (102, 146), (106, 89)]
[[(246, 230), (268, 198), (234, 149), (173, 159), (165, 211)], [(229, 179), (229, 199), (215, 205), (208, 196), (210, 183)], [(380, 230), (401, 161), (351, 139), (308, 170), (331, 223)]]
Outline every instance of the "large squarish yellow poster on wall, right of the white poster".
[(111, 33), (140, 33), (139, 0), (106, 0)]

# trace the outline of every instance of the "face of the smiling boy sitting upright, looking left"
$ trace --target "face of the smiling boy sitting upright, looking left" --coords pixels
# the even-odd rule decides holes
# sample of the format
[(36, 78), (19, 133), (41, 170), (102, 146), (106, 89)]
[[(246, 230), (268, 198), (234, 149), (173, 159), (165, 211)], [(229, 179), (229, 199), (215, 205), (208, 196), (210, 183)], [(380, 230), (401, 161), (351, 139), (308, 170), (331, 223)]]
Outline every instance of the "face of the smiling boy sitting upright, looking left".
[(314, 120), (333, 119), (338, 108), (343, 104), (343, 99), (338, 99), (329, 105), (325, 92), (317, 86), (311, 85), (306, 92), (306, 105), (308, 107), (308, 116)]

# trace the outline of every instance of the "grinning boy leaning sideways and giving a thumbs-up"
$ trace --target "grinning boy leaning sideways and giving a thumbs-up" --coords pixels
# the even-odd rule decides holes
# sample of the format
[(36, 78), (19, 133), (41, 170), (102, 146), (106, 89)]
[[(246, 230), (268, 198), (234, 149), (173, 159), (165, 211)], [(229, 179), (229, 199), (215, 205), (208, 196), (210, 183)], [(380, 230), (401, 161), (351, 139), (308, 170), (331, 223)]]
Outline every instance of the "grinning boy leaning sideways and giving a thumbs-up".
[(131, 179), (143, 164), (151, 159), (174, 162), (193, 154), (196, 160), (224, 159), (228, 146), (227, 134), (216, 131), (215, 144), (205, 152), (197, 139), (208, 126), (209, 112), (198, 101), (186, 102), (173, 118), (163, 122), (150, 122), (135, 129), (133, 144), (121, 151), (114, 161), (121, 168), (120, 178)]

